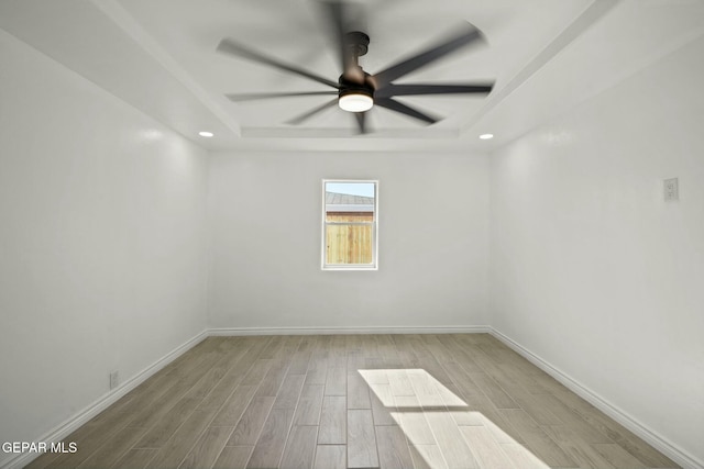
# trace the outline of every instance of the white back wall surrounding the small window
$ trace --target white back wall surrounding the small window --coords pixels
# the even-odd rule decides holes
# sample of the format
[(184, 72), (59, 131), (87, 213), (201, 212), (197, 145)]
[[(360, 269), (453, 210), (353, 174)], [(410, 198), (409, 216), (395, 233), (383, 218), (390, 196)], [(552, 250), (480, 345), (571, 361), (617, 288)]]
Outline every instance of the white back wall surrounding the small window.
[[(320, 269), (321, 180), (380, 180), (378, 271)], [(487, 324), (486, 156), (211, 157), (212, 327)]]

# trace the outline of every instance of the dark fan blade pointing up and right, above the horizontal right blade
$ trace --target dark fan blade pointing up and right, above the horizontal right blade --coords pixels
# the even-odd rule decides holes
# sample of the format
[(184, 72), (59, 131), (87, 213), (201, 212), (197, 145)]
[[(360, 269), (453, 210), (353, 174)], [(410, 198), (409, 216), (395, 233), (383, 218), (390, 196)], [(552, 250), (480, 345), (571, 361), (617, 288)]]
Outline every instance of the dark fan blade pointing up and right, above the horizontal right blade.
[(402, 60), (396, 65), (388, 67), (385, 70), (374, 75), (373, 80), (376, 82), (376, 88), (384, 88), (397, 78), (404, 75), (410, 74), (421, 67), (431, 64), (439, 58), (466, 46), (477, 41), (482, 41), (483, 35), (480, 30), (470, 23), (465, 23), (459, 31), (457, 31), (450, 40), (446, 40), (432, 47), (416, 54), (415, 56)]

